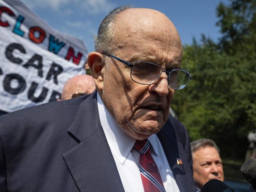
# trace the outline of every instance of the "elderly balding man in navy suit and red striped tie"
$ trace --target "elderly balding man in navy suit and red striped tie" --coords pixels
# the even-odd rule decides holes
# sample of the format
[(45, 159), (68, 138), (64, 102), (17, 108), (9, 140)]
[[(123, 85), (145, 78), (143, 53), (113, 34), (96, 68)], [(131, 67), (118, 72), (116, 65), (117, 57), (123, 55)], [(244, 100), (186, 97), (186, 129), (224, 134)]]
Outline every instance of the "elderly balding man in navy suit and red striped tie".
[(181, 58), (163, 13), (114, 9), (88, 55), (97, 91), (0, 119), (0, 191), (195, 191), (187, 131), (168, 115), (191, 78)]

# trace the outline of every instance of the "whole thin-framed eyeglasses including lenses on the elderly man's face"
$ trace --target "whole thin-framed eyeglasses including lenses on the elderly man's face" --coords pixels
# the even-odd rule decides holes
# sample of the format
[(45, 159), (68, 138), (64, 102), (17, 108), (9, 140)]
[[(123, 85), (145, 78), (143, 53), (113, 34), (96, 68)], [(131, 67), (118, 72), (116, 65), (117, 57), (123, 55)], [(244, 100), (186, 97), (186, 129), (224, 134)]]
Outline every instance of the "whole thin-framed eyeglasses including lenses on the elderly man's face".
[(120, 58), (117, 58), (112, 54), (103, 54), (110, 56), (131, 67), (131, 79), (139, 84), (151, 85), (156, 82), (164, 72), (167, 75), (167, 80), (170, 88), (179, 90), (185, 88), (189, 80), (192, 79), (190, 72), (184, 69), (174, 68), (171, 71), (164, 71), (163, 68), (156, 63), (138, 61), (134, 64), (131, 64), (124, 60), (121, 60)]

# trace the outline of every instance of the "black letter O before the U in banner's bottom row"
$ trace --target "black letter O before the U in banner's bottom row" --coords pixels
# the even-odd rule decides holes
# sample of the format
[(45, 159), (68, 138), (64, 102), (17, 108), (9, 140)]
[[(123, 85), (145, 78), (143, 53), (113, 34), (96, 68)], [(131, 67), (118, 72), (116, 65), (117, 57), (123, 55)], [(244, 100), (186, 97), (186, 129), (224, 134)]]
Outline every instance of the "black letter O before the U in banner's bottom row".
[[(11, 88), (11, 81), (14, 79), (19, 81), (19, 86), (17, 88)], [(4, 78), (4, 90), (7, 91), (8, 93), (17, 95), (22, 91), (24, 91), (25, 88), (26, 88), (26, 82), (24, 78), (22, 78), (22, 76), (18, 74), (11, 73), (9, 75), (6, 75), (6, 77)]]

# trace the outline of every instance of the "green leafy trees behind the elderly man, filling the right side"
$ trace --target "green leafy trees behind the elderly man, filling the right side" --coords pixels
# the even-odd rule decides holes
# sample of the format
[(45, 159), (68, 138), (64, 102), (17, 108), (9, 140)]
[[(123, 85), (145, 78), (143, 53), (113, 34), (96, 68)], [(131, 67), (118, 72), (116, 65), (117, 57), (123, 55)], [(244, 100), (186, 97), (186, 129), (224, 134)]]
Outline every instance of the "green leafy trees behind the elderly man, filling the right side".
[(192, 80), (176, 91), (172, 108), (191, 140), (211, 138), (222, 155), (244, 158), (256, 129), (256, 0), (220, 3), (217, 16), (219, 42), (202, 35), (184, 47), (182, 68)]

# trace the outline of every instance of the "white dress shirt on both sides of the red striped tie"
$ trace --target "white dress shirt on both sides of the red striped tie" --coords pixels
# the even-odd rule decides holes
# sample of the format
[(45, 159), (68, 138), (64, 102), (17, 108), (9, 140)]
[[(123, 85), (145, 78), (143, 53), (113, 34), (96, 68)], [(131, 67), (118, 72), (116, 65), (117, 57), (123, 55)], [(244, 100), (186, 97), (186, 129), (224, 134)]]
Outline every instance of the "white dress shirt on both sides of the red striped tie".
[[(103, 127), (108, 145), (114, 157), (125, 192), (144, 192), (140, 170), (138, 168), (140, 153), (133, 149), (136, 140), (127, 135), (118, 126), (98, 93), (97, 105), (101, 126)], [(148, 140), (151, 144), (151, 155), (157, 164), (166, 192), (179, 192), (178, 185), (158, 137), (153, 134)]]

